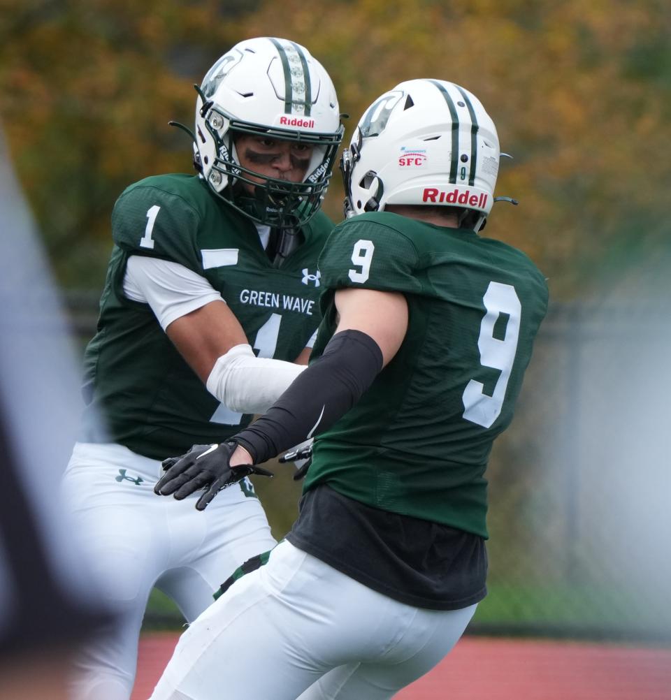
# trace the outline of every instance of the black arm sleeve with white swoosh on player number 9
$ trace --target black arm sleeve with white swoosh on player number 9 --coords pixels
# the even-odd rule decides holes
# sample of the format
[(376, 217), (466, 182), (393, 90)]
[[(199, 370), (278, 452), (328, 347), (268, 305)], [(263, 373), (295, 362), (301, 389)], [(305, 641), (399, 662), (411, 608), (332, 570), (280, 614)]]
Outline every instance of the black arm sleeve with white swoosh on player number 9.
[(343, 330), (324, 354), (293, 380), (275, 405), (233, 437), (255, 464), (330, 428), (361, 398), (382, 370), (382, 351), (370, 335)]

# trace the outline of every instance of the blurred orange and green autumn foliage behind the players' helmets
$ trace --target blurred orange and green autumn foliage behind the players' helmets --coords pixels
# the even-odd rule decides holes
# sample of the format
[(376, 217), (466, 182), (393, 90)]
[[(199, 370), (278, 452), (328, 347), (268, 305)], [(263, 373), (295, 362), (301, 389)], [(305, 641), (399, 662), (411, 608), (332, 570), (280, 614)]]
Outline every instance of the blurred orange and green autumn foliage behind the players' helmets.
[[(671, 10), (661, 0), (0, 0), (1, 118), (60, 279), (99, 288), (109, 214), (132, 181), (189, 172), (195, 92), (248, 36), (303, 43), (361, 111), (401, 80), (468, 87), (499, 129), (487, 235), (530, 253), (555, 299), (604, 260), (667, 248)], [(340, 217), (334, 176), (326, 211)], [(665, 254), (665, 253), (664, 253)], [(607, 266), (606, 266), (607, 267)], [(634, 274), (636, 277), (636, 274)]]

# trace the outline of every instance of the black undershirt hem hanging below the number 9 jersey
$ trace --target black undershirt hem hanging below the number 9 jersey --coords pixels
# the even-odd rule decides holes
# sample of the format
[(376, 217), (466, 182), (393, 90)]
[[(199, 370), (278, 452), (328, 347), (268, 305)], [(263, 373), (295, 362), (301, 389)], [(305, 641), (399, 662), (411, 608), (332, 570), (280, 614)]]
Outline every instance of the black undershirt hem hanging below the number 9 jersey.
[(303, 495), (286, 539), (406, 605), (458, 610), (487, 594), (487, 552), (479, 535), (373, 508), (326, 484)]

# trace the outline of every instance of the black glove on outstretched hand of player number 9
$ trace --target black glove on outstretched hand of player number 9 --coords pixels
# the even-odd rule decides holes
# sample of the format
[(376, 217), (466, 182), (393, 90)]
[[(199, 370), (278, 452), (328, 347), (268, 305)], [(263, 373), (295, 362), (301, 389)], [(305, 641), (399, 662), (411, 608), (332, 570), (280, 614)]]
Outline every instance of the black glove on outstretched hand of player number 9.
[(207, 489), (195, 507), (205, 510), (207, 504), (221, 489), (237, 484), (250, 474), (272, 477), (272, 472), (253, 464), (230, 466), (230, 456), (237, 444), (233, 440), (221, 444), (195, 444), (181, 457), (169, 457), (162, 462), (165, 474), (156, 482), (154, 493), (174, 495), (182, 500), (199, 489)]

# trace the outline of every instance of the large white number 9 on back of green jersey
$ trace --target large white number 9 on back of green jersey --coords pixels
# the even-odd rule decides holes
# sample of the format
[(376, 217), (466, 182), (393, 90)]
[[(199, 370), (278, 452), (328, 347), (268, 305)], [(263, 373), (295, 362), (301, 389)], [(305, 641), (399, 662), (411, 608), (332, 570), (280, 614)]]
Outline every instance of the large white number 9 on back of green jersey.
[[(485, 386), (480, 381), (471, 379), (466, 384), (463, 395), (463, 415), (471, 423), (477, 423), (483, 428), (490, 428), (499, 417), (504, 398), (506, 398), (506, 388), (513, 369), (520, 336), (522, 305), (512, 285), (493, 281), (487, 287), (483, 302), (487, 312), (480, 323), (480, 336), (478, 337), (480, 363), (484, 367), (501, 370), (501, 374), (491, 396), (484, 393)], [(501, 314), (508, 316), (508, 323), (504, 339), (499, 340), (494, 337), (494, 325)]]

